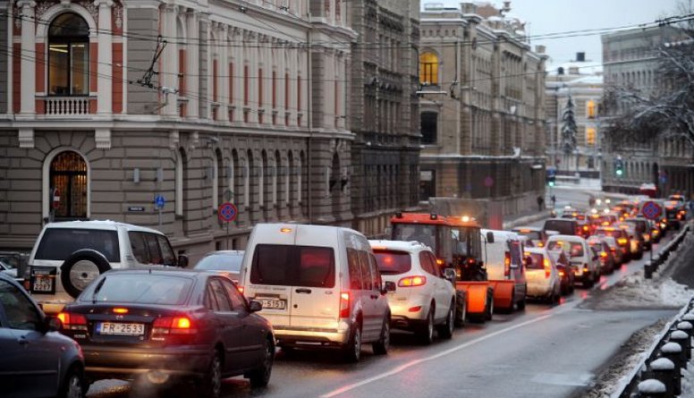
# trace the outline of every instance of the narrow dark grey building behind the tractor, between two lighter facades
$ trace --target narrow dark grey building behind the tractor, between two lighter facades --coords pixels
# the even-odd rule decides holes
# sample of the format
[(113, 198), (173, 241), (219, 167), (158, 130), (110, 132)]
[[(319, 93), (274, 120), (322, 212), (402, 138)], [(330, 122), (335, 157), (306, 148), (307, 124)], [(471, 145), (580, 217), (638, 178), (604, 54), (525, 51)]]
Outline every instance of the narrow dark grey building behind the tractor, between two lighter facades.
[(351, 0), (350, 127), (354, 227), (384, 233), (395, 211), (418, 204), (419, 0)]

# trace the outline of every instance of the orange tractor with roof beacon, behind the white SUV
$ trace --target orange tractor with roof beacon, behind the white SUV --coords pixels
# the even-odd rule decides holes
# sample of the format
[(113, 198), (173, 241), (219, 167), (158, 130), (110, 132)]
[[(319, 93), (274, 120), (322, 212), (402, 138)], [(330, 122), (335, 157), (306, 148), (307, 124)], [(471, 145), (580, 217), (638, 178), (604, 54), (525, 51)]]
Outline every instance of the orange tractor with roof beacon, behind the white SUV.
[(434, 250), (439, 266), (455, 270), (456, 326), (462, 326), (466, 318), (481, 322), (492, 318), (495, 291), (487, 281), (480, 231), (469, 217), (397, 213), (391, 218), (391, 239), (421, 241)]

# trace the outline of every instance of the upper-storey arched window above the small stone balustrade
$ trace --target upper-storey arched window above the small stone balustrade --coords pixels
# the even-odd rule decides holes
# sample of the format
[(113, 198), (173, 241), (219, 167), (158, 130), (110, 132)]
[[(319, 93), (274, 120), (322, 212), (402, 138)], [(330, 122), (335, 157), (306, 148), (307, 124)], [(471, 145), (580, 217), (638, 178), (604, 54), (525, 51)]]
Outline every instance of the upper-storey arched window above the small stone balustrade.
[(89, 95), (89, 26), (76, 13), (58, 15), (48, 30), (48, 92)]

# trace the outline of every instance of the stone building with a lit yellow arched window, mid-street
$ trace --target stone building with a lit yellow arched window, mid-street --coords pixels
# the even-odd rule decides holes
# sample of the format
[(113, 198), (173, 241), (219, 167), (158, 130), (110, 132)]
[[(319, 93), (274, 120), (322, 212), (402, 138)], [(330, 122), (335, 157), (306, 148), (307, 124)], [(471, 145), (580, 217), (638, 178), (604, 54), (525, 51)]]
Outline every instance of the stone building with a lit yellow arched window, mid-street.
[(493, 199), (504, 215), (537, 207), (546, 55), (488, 5), (425, 6), (420, 26), (420, 199)]

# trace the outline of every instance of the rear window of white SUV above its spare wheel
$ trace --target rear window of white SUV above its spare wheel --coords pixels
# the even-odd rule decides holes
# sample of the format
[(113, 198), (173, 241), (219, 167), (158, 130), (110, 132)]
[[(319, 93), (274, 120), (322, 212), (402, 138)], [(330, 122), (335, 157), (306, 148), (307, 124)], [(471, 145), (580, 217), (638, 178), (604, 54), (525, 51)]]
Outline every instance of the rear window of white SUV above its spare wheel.
[(97, 250), (110, 263), (121, 261), (115, 231), (77, 228), (47, 228), (35, 258), (64, 261), (82, 249)]

